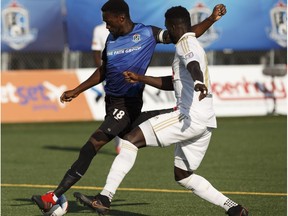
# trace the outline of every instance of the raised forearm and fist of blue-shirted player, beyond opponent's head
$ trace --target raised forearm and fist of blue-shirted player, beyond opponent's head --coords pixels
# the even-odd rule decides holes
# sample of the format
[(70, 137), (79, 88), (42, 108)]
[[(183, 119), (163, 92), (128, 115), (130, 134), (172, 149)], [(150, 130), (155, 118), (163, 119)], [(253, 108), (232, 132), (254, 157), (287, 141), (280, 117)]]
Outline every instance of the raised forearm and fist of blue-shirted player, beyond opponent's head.
[(218, 4), (214, 7), (212, 14), (203, 20), (201, 23), (193, 25), (191, 27), (192, 32), (196, 34), (196, 37), (200, 37), (204, 34), (210, 27), (218, 21), (222, 16), (226, 14), (226, 6), (224, 4)]

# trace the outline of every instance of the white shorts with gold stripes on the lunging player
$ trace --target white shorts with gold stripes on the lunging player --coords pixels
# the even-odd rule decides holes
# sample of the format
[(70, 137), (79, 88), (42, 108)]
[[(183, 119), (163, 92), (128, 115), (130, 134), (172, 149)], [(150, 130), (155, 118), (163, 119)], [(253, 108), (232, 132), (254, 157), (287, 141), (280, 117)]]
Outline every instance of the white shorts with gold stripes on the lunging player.
[(175, 144), (174, 165), (187, 171), (199, 167), (212, 135), (212, 128), (193, 122), (179, 110), (155, 116), (139, 127), (147, 146)]

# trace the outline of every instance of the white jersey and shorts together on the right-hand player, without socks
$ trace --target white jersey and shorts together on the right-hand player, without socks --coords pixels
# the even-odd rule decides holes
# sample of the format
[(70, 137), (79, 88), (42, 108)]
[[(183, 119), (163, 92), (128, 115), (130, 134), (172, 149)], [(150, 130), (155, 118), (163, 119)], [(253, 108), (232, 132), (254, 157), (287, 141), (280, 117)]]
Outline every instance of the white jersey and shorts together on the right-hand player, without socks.
[[(197, 61), (208, 88), (207, 97), (199, 101), (187, 64)], [(147, 146), (166, 147), (176, 144), (174, 166), (195, 171), (209, 146), (212, 128), (216, 128), (211, 84), (206, 55), (193, 33), (184, 34), (176, 44), (173, 61), (173, 84), (177, 110), (158, 115), (139, 125)]]

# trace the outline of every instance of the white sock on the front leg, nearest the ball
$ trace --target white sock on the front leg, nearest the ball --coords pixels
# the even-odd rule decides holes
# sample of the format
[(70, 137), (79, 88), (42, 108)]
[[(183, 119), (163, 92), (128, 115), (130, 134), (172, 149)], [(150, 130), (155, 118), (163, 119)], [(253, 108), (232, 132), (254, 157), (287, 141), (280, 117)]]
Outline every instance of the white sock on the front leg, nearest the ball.
[(114, 159), (109, 174), (106, 179), (106, 185), (100, 194), (106, 195), (110, 201), (116, 193), (117, 188), (133, 167), (138, 148), (127, 140), (122, 140), (120, 153)]

